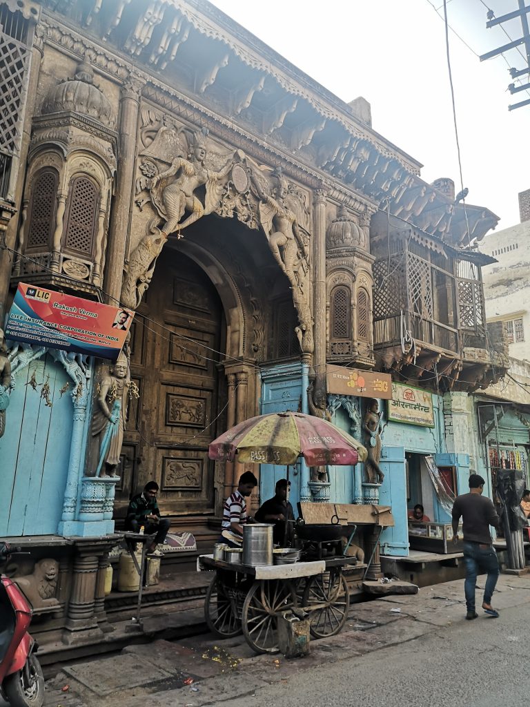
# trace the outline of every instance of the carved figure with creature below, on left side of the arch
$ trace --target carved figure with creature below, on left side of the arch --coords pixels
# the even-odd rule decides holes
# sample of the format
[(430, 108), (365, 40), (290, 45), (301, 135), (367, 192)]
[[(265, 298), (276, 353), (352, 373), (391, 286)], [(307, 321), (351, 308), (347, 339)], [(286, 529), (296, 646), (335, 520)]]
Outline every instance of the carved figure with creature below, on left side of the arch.
[[(137, 189), (149, 190), (153, 207), (165, 223), (162, 228), (153, 228), (151, 224), (148, 233), (131, 253), (122, 285), (121, 300), (126, 307), (136, 309), (139, 306), (167, 237), (176, 231), (177, 238), (182, 238), (184, 228), (211, 214), (219, 205), (225, 177), (236, 160), (228, 160), (218, 172), (208, 170), (205, 166), (207, 134), (206, 130), (194, 133), (187, 159), (177, 157), (165, 172), (139, 180)], [(244, 157), (240, 151), (236, 156), (238, 159)], [(200, 187), (206, 187), (204, 204), (195, 193)], [(182, 221), (185, 214), (189, 216)]]

